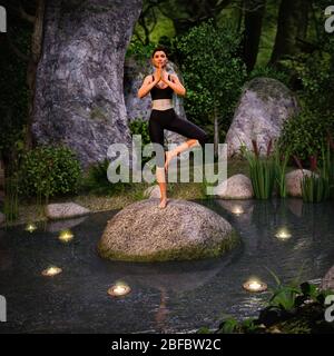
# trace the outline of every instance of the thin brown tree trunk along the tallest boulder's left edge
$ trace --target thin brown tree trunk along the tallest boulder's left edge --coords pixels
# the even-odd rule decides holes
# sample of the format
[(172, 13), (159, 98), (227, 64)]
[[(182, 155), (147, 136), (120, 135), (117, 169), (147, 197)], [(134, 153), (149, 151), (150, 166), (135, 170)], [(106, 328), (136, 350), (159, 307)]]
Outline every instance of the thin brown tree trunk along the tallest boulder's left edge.
[(31, 53), (30, 53), (28, 70), (27, 70), (27, 85), (30, 91), (30, 98), (28, 103), (28, 120), (27, 120), (27, 131), (26, 131), (26, 139), (24, 139), (26, 150), (29, 150), (32, 147), (31, 127), (33, 122), (36, 72), (37, 72), (37, 66), (41, 56), (45, 7), (46, 7), (45, 0), (38, 0), (35, 24), (33, 24), (33, 32), (31, 38)]

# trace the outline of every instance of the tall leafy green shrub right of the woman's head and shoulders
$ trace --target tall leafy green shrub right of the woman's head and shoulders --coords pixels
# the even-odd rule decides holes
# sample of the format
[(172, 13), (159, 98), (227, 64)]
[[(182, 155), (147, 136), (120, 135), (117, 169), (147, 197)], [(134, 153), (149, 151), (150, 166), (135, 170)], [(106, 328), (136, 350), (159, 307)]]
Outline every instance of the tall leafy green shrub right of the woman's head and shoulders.
[(236, 55), (239, 44), (240, 36), (230, 23), (217, 28), (212, 21), (178, 39), (189, 116), (202, 119), (217, 115), (228, 127), (246, 78), (245, 65)]

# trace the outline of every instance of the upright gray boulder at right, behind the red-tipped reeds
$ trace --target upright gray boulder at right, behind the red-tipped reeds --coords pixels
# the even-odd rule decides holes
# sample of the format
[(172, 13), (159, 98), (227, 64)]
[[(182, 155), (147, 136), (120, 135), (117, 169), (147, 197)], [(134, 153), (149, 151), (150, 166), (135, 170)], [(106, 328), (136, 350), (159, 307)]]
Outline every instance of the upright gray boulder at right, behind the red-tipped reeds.
[(269, 140), (279, 137), (284, 121), (297, 110), (293, 92), (282, 82), (271, 78), (247, 82), (226, 136), (228, 157), (239, 155), (242, 144), (252, 150), (252, 139), (264, 155)]

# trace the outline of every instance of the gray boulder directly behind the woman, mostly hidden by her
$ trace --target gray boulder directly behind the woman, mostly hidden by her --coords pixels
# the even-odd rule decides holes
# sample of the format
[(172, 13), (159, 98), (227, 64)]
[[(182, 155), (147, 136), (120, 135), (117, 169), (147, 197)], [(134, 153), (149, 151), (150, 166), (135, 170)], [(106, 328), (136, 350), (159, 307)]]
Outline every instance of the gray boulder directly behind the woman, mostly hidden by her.
[[(146, 97), (139, 99), (137, 97), (137, 92), (143, 83), (144, 78), (148, 75), (154, 73), (154, 70), (155, 68), (150, 65), (149, 59), (136, 60), (135, 57), (129, 57), (125, 61), (124, 93), (129, 122), (136, 119), (143, 119), (145, 121), (148, 121), (149, 119), (151, 111), (150, 95), (148, 93)], [(179, 80), (183, 81), (181, 73), (179, 72), (177, 66), (171, 61), (168, 61), (166, 70), (169, 73), (176, 73)], [(174, 95), (173, 105), (176, 113), (181, 119), (187, 120), (183, 98), (177, 95)], [(180, 144), (186, 140), (184, 136), (166, 130), (165, 137), (168, 144)]]

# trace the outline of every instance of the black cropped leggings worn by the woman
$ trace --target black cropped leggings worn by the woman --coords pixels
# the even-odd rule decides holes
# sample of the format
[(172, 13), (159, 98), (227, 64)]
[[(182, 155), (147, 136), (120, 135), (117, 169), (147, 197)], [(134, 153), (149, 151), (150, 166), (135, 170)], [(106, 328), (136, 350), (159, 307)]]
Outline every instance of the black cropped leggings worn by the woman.
[[(207, 134), (195, 123), (180, 119), (174, 108), (167, 110), (153, 109), (149, 117), (148, 129), (151, 142), (159, 144), (163, 147), (164, 129), (177, 132), (189, 139), (198, 140), (203, 149), (207, 142)], [(157, 167), (164, 167), (164, 160), (157, 155)]]

